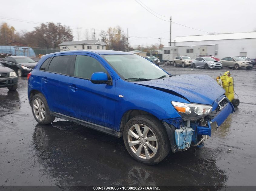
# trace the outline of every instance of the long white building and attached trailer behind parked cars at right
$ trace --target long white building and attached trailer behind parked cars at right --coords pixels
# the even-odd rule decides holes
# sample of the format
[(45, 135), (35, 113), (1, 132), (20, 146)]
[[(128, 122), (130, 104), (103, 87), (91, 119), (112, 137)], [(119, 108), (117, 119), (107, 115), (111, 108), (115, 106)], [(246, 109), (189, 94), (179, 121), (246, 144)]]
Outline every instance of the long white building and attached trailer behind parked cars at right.
[(207, 54), (220, 59), (228, 56), (256, 58), (256, 31), (184, 36), (176, 37), (173, 41), (172, 46), (163, 47), (163, 60), (172, 60), (175, 55), (188, 55), (193, 58)]

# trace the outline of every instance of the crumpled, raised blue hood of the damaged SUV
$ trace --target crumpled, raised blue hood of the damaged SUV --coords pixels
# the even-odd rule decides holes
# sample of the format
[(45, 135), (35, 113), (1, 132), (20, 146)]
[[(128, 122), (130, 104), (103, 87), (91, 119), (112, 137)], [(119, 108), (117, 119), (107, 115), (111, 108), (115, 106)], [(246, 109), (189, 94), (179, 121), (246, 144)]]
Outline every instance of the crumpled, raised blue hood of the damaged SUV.
[(185, 97), (191, 103), (208, 105), (212, 105), (216, 99), (225, 93), (224, 89), (208, 75), (176, 75), (135, 83)]

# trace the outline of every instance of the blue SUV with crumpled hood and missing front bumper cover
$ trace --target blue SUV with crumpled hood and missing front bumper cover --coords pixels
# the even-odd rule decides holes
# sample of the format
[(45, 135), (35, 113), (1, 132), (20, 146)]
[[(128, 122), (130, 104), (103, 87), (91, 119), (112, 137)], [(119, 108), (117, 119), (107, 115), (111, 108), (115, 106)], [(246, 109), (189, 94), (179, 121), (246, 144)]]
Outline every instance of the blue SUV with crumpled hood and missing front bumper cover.
[(202, 146), (234, 111), (207, 75), (171, 75), (126, 52), (79, 50), (43, 56), (28, 74), (35, 120), (55, 117), (122, 137), (129, 154), (156, 164), (169, 151)]

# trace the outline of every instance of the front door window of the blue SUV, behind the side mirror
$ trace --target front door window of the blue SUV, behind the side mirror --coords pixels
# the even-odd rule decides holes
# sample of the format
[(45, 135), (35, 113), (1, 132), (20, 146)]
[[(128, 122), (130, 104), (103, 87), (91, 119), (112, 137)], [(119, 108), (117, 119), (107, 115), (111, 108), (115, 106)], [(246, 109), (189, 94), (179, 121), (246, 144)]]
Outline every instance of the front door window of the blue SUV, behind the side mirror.
[(84, 55), (76, 56), (74, 70), (75, 77), (91, 79), (91, 75), (95, 72), (104, 72), (107, 74), (107, 70), (95, 58)]

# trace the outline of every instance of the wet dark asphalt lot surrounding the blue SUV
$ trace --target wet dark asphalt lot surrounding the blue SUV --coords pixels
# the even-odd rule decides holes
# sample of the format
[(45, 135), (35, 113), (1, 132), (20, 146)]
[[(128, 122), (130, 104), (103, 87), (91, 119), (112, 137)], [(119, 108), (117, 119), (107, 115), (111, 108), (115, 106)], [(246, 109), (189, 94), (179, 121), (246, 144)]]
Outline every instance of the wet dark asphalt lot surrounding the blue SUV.
[[(228, 70), (161, 67), (212, 78)], [(256, 71), (229, 70), (240, 99), (236, 112), (204, 147), (170, 152), (155, 166), (133, 160), (122, 138), (58, 118), (39, 125), (27, 79), (19, 77), (17, 91), (0, 88), (0, 186), (256, 185)]]

